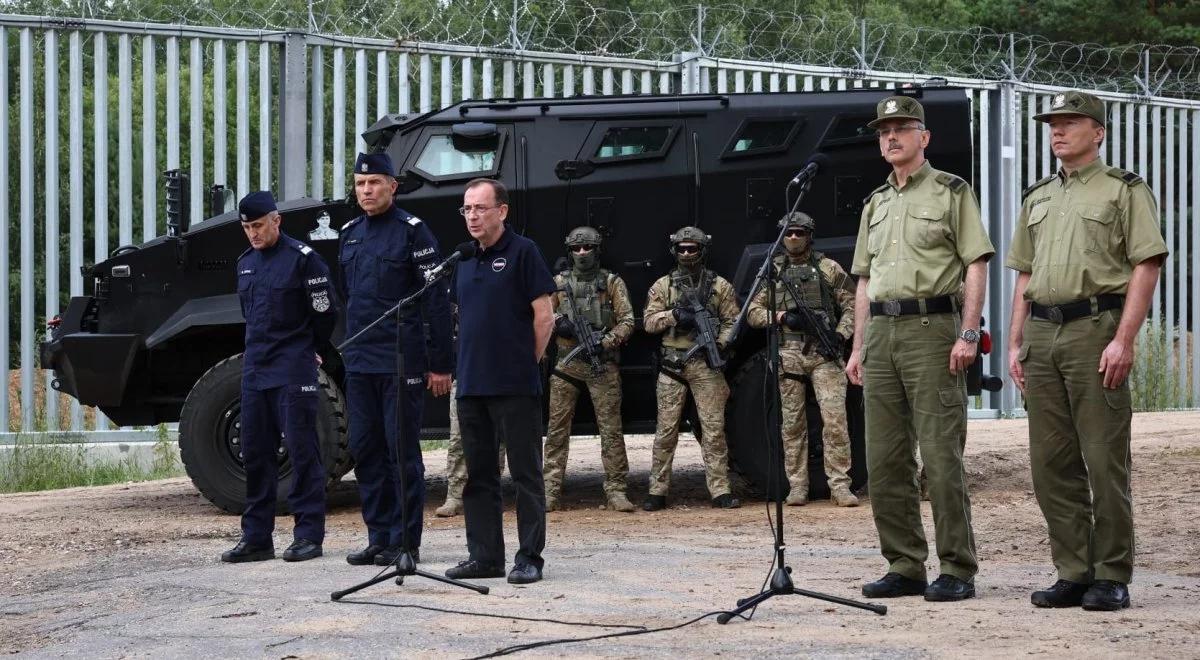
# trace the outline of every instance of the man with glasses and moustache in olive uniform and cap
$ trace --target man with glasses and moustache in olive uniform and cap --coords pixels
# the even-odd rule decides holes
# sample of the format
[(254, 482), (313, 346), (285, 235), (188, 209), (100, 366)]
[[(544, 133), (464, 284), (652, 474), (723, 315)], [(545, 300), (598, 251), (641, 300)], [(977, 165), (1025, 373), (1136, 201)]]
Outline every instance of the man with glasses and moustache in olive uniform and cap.
[[(851, 271), (859, 276), (854, 308), (863, 313), (846, 374), (863, 384), (868, 488), (888, 572), (864, 584), (863, 595), (962, 600), (974, 596), (978, 570), (962, 470), (966, 370), (977, 353), (995, 251), (971, 186), (925, 160), (930, 132), (916, 98), (880, 101), (868, 126), (892, 174), (866, 199), (859, 224)], [(941, 564), (928, 586), (918, 442)]]

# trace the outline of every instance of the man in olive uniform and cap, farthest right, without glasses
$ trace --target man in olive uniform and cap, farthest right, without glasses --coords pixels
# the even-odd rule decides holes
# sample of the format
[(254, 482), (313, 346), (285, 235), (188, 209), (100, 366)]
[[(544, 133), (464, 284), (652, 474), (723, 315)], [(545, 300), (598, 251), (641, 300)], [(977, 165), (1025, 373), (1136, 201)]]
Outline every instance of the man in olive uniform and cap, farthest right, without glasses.
[(1062, 168), (1025, 191), (1007, 264), (1018, 271), (1009, 373), (1030, 414), (1033, 492), (1058, 581), (1038, 607), (1129, 606), (1133, 510), (1127, 376), (1166, 244), (1145, 181), (1100, 160), (1104, 102), (1054, 97)]

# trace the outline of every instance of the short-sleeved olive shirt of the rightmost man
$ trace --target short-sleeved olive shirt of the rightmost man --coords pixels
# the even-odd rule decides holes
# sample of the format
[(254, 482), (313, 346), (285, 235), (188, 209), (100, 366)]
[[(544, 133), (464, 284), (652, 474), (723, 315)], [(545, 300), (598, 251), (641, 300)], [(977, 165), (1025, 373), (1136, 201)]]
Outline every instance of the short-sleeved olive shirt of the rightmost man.
[(1006, 263), (1039, 305), (1123, 295), (1133, 266), (1166, 254), (1158, 224), (1150, 186), (1097, 158), (1030, 186)]

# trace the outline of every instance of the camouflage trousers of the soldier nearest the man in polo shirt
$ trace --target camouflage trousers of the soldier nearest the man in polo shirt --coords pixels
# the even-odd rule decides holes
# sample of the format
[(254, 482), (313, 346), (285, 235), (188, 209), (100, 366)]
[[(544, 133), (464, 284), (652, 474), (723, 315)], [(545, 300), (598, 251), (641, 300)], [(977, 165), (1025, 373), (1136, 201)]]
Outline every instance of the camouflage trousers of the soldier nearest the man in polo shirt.
[[(624, 494), (629, 476), (629, 457), (625, 455), (625, 436), (620, 431), (620, 370), (612, 362), (605, 364), (601, 376), (592, 373), (583, 362), (569, 365), (559, 362), (554, 371), (583, 383), (592, 395), (592, 407), (600, 427), (600, 461), (604, 463), (605, 496)], [(569, 380), (554, 374), (550, 378), (550, 424), (546, 427), (546, 460), (542, 476), (546, 480), (546, 498), (557, 498), (563, 492), (566, 476), (566, 454), (571, 439), (571, 420), (580, 390)]]

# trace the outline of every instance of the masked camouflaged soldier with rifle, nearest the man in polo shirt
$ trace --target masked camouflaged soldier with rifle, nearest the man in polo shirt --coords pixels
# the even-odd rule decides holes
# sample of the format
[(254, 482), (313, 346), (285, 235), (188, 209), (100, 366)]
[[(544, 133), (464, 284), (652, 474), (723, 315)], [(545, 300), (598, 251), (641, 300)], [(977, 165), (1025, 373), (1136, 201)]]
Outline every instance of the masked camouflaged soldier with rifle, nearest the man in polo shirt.
[[(600, 232), (577, 227), (566, 235), (571, 268), (554, 276), (554, 335), (558, 337), (558, 364), (550, 378), (550, 420), (546, 427), (546, 460), (542, 475), (546, 480), (546, 510), (557, 511), (566, 475), (566, 454), (571, 438), (575, 402), (584, 389), (592, 395), (592, 406), (600, 427), (600, 458), (604, 463), (604, 492), (608, 506), (617, 511), (632, 511), (625, 496), (629, 458), (625, 437), (620, 430), (620, 370), (617, 366), (620, 347), (634, 332), (634, 307), (629, 289), (619, 276), (600, 268)], [(578, 346), (571, 323), (570, 289), (575, 308), (588, 325), (602, 331), (600, 361), (604, 373), (592, 371), (587, 356), (577, 354), (570, 362), (563, 359)]]

